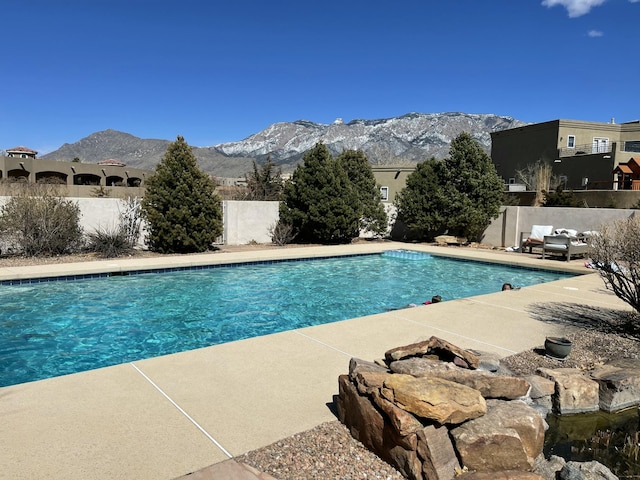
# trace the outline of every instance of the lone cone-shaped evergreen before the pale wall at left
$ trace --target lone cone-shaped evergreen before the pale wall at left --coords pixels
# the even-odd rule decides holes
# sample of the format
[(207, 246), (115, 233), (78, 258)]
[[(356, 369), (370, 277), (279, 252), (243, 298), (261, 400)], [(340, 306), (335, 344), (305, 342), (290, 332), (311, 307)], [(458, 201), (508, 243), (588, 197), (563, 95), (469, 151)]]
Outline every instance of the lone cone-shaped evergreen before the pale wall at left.
[(169, 145), (147, 180), (143, 212), (149, 246), (160, 253), (204, 252), (222, 234), (215, 184), (198, 168), (183, 137)]

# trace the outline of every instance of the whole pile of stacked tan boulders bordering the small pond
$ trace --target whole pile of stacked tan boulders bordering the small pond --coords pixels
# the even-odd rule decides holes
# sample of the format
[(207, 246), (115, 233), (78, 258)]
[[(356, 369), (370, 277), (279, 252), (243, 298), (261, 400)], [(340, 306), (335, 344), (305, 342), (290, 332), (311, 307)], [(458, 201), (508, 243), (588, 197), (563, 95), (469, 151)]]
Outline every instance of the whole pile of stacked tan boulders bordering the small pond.
[(532, 470), (542, 458), (547, 411), (640, 403), (640, 376), (630, 379), (628, 361), (591, 376), (540, 369), (526, 378), (480, 370), (483, 363), (437, 337), (389, 350), (378, 363), (351, 359), (349, 374), (339, 377), (338, 416), (410, 479), (535, 480), (543, 479)]

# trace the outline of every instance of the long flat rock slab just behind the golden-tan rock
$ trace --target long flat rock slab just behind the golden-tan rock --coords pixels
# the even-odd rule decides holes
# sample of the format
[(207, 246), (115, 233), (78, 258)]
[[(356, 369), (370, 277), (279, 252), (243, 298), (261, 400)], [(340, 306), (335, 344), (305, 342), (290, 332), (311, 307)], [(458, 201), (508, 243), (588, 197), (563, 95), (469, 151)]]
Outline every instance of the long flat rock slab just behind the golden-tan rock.
[(495, 375), (481, 370), (459, 368), (452, 363), (438, 362), (426, 358), (408, 358), (389, 365), (394, 373), (414, 377), (438, 377), (466, 385), (478, 390), (484, 398), (506, 398), (513, 400), (524, 397), (529, 391), (529, 382), (522, 377)]

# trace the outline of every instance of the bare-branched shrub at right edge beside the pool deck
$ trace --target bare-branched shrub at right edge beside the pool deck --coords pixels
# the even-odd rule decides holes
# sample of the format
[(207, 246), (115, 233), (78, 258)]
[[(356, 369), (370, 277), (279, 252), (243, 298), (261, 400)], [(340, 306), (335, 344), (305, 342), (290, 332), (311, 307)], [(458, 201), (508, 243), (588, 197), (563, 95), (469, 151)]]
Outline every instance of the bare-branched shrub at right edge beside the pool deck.
[(591, 243), (593, 263), (606, 287), (640, 313), (640, 217), (602, 226)]

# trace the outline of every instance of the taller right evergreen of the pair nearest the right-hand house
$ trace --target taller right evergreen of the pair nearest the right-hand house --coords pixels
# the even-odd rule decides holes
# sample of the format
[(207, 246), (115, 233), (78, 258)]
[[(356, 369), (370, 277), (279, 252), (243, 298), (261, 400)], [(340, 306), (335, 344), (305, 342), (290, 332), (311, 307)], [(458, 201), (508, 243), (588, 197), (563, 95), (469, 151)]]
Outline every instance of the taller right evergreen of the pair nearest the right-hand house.
[(480, 240), (491, 219), (498, 216), (504, 184), (491, 157), (468, 133), (461, 133), (451, 142), (439, 182), (448, 233)]

